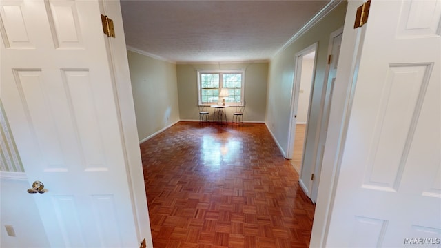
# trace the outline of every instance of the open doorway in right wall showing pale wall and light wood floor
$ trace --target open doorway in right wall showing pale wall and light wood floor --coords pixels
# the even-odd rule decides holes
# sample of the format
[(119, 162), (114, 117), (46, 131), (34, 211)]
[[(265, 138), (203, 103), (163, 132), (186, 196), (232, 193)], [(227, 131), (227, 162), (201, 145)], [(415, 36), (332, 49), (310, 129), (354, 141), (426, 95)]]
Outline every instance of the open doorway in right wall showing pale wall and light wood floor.
[(294, 136), (294, 147), (291, 164), (300, 175), (302, 167), (302, 156), (305, 147), (305, 134), (307, 127), (307, 119), (309, 113), (309, 99), (311, 96), (311, 85), (314, 79), (314, 61), (316, 51), (312, 50), (305, 55), (302, 55), (298, 61), (298, 75), (300, 77), (300, 88), (298, 90), (298, 107), (296, 118), (296, 134)]

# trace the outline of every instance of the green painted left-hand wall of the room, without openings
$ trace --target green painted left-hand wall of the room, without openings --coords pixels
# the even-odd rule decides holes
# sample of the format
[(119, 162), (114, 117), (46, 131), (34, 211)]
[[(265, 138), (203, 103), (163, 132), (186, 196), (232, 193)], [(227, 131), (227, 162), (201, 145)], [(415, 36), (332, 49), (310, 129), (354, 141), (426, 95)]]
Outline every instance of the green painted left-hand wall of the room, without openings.
[(139, 140), (179, 121), (176, 65), (127, 51)]

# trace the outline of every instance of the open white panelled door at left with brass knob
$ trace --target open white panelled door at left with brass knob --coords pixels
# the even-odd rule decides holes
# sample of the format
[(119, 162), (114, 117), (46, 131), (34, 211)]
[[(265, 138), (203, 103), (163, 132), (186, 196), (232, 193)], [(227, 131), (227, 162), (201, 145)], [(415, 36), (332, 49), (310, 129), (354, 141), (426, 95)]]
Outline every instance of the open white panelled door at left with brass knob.
[[(99, 1), (1, 1), (1, 99), (51, 247), (139, 247)], [(23, 189), (25, 191), (26, 189)]]

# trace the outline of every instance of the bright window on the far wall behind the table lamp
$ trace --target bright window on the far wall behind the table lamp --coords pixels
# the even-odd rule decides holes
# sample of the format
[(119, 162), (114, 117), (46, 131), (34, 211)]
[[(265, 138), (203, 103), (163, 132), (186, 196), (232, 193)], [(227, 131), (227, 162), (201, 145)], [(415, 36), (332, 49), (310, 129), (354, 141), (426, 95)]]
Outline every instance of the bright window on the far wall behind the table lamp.
[(219, 99), (220, 89), (228, 89), (225, 103), (236, 105), (243, 102), (244, 71), (243, 70), (216, 70), (198, 71), (198, 103), (214, 104)]

